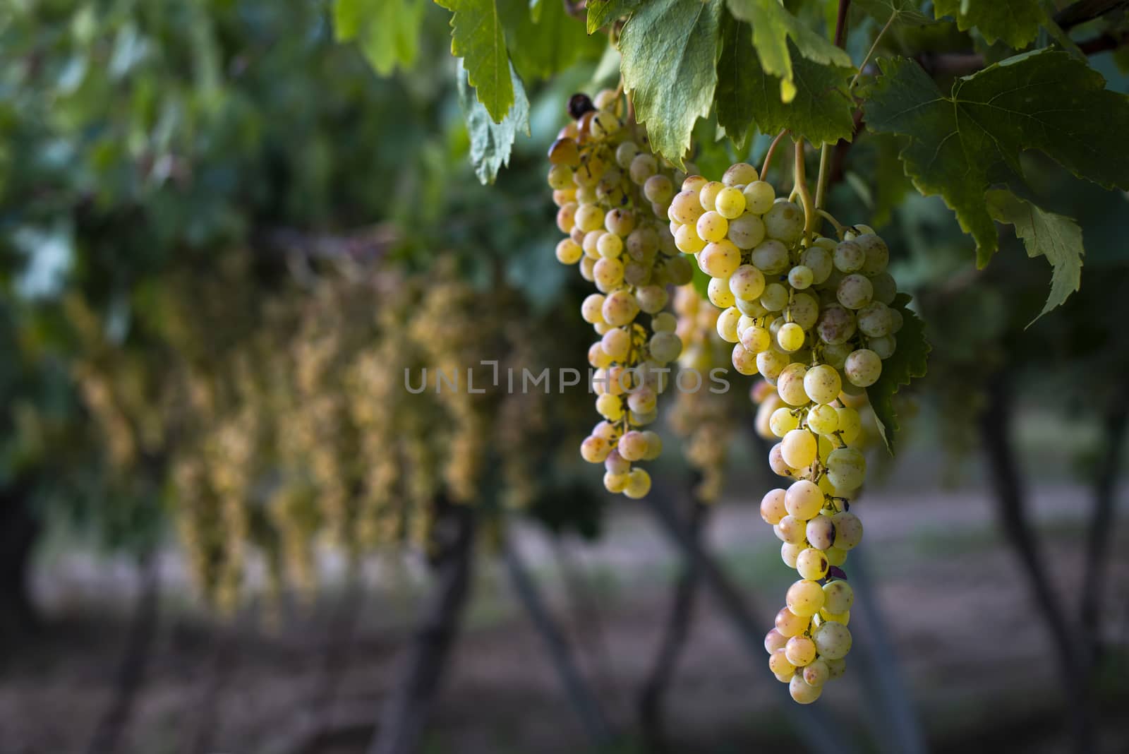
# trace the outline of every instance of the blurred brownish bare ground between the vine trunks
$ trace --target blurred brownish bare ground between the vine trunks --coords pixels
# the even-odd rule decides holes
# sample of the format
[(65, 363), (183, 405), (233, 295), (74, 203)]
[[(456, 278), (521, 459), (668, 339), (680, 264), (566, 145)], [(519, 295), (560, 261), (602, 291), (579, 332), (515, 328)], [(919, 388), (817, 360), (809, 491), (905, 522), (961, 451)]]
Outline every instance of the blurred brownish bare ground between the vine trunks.
[[(1075, 611), (1087, 493), (1043, 486), (1032, 503), (1054, 586)], [(877, 626), (852, 620), (851, 672), (828, 687), (820, 704), (863, 751), (892, 749), (890, 721), (872, 703), (872, 673), (856, 654), (898, 659), (900, 682), (933, 751), (1069, 751), (1050, 643), (991, 510), (979, 491), (921, 492), (903, 485), (868, 494), (860, 506), (866, 545), (852, 554), (848, 572), (857, 558), (866, 559), (890, 645), (868, 640)], [(1122, 506), (1121, 521), (1127, 512)], [(771, 531), (752, 507), (726, 501), (710, 521), (709, 536), (767, 630), (790, 573)], [(1114, 538), (1102, 626), (1113, 651), (1095, 708), (1101, 751), (1111, 753), (1129, 751), (1121, 724), (1129, 700), (1129, 527), (1119, 526)], [(623, 506), (598, 544), (554, 545), (531, 527), (522, 531), (519, 546), (610, 716), (628, 739), (638, 740), (637, 691), (658, 642), (677, 554), (650, 519)], [(326, 564), (331, 582), (338, 566)], [(196, 754), (189, 752), (187, 740), (207, 740), (208, 752), (226, 754), (365, 751), (426, 587), (419, 563), (383, 561), (366, 570), (362, 598), (351, 605), (357, 629), (343, 646), (345, 639), (332, 629), (340, 590), (327, 588), (313, 605), (283, 606), (281, 614), (251, 605), (229, 628), (217, 629), (185, 596), (175, 553), (164, 559), (161, 573), (161, 624), (121, 751)], [(426, 751), (589, 751), (540, 638), (502, 577), (497, 563), (481, 560), (469, 625)], [(85, 749), (108, 703), (135, 581), (128, 564), (86, 555), (41, 568), (37, 589), (49, 622), (0, 677), (0, 754)], [(668, 698), (669, 751), (724, 754), (794, 743), (779, 713), (786, 690), (768, 674), (763, 658), (754, 663), (743, 652), (710, 599), (699, 606)], [(226, 654), (217, 663), (221, 646)], [(345, 664), (326, 710), (320, 702), (330, 646)], [(326, 721), (333, 735), (313, 742), (312, 726)], [(647, 749), (625, 745), (616, 751)]]

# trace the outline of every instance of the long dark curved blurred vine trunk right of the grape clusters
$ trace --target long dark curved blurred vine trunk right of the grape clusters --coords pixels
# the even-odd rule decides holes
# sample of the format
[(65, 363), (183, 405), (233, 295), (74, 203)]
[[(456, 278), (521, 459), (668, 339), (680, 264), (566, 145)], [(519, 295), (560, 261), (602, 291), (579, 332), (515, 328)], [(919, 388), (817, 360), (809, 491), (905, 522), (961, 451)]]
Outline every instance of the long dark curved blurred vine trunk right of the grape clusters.
[(987, 409), (980, 415), (980, 437), (1004, 536), (1019, 559), (1039, 616), (1050, 634), (1075, 749), (1079, 754), (1088, 754), (1093, 751), (1093, 727), (1088, 719), (1085, 673), (1079, 672), (1084, 670), (1085, 664), (1075, 643), (1077, 632), (1067, 620), (1066, 611), (1051, 586), (1045, 560), (1027, 518), (1026, 490), (1012, 441), (1013, 394), (1014, 387), (1006, 375), (997, 374), (990, 379)]

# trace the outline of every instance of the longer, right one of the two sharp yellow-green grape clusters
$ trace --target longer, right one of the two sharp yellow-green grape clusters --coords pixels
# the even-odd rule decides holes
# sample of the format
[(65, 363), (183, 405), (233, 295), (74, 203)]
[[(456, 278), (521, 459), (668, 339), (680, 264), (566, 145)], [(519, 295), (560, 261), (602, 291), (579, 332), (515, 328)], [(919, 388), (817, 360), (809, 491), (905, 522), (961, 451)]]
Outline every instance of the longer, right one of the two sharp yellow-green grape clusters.
[(761, 516), (800, 580), (764, 647), (793, 699), (811, 703), (842, 674), (851, 645), (854, 596), (840, 567), (863, 537), (849, 509), (866, 459), (856, 447), (859, 413), (848, 404), (878, 379), (902, 325), (891, 306), (890, 252), (865, 226), (840, 228), (838, 239), (813, 237), (803, 209), (777, 199), (744, 163), (719, 182), (686, 177), (668, 214), (677, 247), (710, 277), (734, 368), (776, 391), (767, 396), (776, 407), (761, 412), (779, 438), (769, 465), (793, 481), (764, 496)]

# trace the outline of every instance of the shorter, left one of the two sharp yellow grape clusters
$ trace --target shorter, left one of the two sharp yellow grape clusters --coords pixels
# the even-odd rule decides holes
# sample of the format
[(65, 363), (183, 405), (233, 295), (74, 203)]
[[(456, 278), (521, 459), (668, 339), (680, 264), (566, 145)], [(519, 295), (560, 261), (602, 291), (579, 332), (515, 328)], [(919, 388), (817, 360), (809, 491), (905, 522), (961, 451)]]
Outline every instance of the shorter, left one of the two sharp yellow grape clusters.
[(693, 269), (665, 221), (684, 175), (651, 152), (644, 130), (620, 117), (621, 106), (612, 90), (601, 91), (595, 103), (585, 95), (569, 100), (574, 122), (549, 149), (549, 185), (560, 208), (557, 226), (568, 234), (557, 245), (557, 258), (579, 264), (598, 291), (584, 300), (580, 315), (601, 336), (588, 362), (603, 420), (581, 442), (580, 455), (604, 464), (610, 492), (641, 498), (650, 476), (634, 464), (662, 451), (659, 436), (644, 428), (657, 417), (667, 365), (682, 352), (676, 319), (663, 312), (666, 287), (690, 282)]

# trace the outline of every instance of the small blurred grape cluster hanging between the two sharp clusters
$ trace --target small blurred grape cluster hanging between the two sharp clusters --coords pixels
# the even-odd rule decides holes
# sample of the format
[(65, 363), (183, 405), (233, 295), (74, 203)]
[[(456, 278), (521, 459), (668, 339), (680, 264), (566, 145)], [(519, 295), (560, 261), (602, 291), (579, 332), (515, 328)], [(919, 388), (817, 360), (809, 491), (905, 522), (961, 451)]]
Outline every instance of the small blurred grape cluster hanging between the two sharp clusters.
[[(707, 375), (728, 361), (725, 341), (717, 334), (718, 309), (702, 301), (693, 286), (680, 286), (674, 291), (675, 330), (685, 348), (679, 365)], [(694, 496), (712, 502), (721, 494), (725, 481), (726, 451), (729, 438), (737, 429), (737, 412), (728, 393), (709, 389), (679, 391), (668, 422), (682, 438), (686, 461), (701, 474)]]

